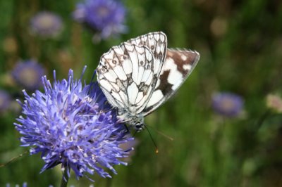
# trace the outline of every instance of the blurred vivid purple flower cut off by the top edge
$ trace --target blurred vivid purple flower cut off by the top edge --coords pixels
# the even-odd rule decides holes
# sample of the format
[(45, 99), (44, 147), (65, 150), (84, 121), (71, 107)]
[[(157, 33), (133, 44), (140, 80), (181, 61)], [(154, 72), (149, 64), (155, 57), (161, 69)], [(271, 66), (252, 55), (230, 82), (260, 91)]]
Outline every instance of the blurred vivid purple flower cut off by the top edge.
[(102, 39), (126, 32), (125, 8), (114, 0), (85, 0), (77, 5), (73, 18), (99, 32)]

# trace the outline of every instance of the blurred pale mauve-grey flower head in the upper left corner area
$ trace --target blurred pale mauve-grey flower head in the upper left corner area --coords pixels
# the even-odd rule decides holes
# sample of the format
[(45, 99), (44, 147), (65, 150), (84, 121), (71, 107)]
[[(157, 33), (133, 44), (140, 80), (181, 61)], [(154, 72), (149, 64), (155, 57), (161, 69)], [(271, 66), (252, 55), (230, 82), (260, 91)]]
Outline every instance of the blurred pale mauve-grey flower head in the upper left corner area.
[(37, 13), (30, 20), (30, 30), (39, 37), (56, 37), (62, 27), (59, 15), (47, 11)]

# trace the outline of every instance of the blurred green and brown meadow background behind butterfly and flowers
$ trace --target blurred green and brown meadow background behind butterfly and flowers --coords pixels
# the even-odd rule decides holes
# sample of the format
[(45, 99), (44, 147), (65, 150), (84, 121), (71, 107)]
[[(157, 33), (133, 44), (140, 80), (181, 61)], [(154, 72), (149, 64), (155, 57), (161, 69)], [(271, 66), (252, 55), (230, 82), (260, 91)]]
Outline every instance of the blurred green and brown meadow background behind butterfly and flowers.
[[(0, 1), (0, 86), (11, 98), (23, 99), (23, 87), (11, 79), (18, 60), (35, 59), (49, 79), (72, 68), (78, 77), (87, 65), (90, 81), (99, 57), (111, 46), (153, 31), (163, 31), (168, 47), (195, 49), (200, 62), (178, 93), (136, 135), (138, 144), (128, 166), (118, 166), (113, 179), (94, 176), (95, 186), (282, 186), (282, 115), (266, 107), (266, 96), (282, 93), (282, 1), (268, 0), (140, 0), (122, 1), (128, 32), (92, 42), (93, 32), (71, 14), (79, 1)], [(61, 16), (55, 38), (30, 32), (30, 19), (39, 11)], [(238, 117), (212, 109), (212, 96), (228, 91), (245, 101)], [(0, 162), (23, 153), (13, 122), (20, 114), (15, 103), (0, 114)], [(0, 186), (59, 186), (59, 167), (39, 174), (40, 155), (24, 155), (0, 168)], [(69, 184), (89, 186), (75, 179)]]

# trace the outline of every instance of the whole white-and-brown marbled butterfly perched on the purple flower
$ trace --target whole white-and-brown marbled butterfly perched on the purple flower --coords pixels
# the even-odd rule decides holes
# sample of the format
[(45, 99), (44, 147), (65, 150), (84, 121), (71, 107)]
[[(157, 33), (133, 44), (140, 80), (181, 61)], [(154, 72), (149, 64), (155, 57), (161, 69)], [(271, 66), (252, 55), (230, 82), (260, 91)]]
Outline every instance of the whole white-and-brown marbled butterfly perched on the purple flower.
[(141, 131), (144, 117), (176, 93), (199, 59), (197, 51), (167, 49), (164, 32), (149, 32), (104, 53), (97, 81), (118, 119)]

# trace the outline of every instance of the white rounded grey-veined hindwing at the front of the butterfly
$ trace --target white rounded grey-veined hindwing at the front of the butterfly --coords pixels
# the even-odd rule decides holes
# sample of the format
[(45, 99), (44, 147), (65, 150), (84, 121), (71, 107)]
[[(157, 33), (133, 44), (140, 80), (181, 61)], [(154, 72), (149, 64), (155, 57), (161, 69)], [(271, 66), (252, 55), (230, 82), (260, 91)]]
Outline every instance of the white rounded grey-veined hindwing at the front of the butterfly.
[(152, 53), (147, 46), (114, 46), (101, 57), (97, 79), (119, 112), (142, 112), (157, 84)]

